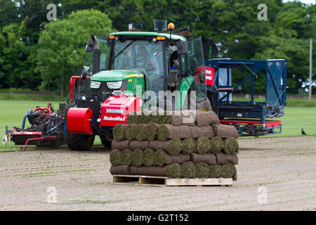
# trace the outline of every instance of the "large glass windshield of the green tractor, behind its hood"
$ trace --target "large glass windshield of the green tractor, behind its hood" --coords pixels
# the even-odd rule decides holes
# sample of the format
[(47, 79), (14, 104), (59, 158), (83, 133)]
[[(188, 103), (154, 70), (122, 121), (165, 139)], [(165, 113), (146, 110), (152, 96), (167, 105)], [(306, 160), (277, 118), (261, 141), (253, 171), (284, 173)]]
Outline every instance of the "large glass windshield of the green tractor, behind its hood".
[(162, 41), (115, 41), (112, 70), (138, 70), (143, 72), (147, 90), (164, 90)]

